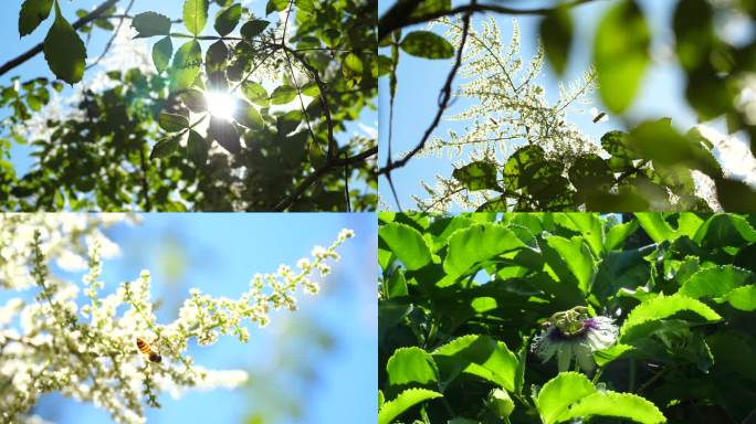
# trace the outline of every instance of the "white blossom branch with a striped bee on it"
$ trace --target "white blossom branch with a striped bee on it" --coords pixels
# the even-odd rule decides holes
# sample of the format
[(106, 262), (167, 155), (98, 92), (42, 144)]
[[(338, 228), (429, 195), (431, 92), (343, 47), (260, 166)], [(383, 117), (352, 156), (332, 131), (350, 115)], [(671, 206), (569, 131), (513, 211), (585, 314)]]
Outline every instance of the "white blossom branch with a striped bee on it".
[[(101, 294), (105, 286), (101, 256), (112, 252), (113, 243), (99, 229), (124, 218), (0, 215), (2, 286), (38, 290), (35, 301), (14, 298), (0, 305), (0, 422), (39, 422), (28, 415), (30, 410), (43, 393), (59, 392), (92, 402), (116, 422), (143, 423), (143, 403), (159, 406), (160, 392), (178, 396), (189, 388), (243, 384), (248, 375), (242, 370), (195, 365), (186, 354), (189, 339), (210, 344), (219, 336), (235, 335), (246, 341), (244, 320), (263, 326), (271, 309), (295, 309), (296, 289), (316, 293), (315, 278), (330, 272), (326, 262), (338, 261), (336, 248), (354, 236), (350, 230), (342, 231), (328, 247), (315, 247), (312, 258), (301, 259), (296, 272), (282, 265), (276, 273), (255, 275), (250, 289), (238, 299), (192, 289), (178, 318), (162, 325), (150, 300), (149, 272), (143, 271), (137, 279), (122, 283), (107, 296)], [(48, 268), (55, 257), (80, 255), (85, 248), (82, 240), (93, 240), (81, 290), (84, 301), (76, 284), (55, 278)], [(159, 353), (159, 361), (139, 352), (137, 338)]]

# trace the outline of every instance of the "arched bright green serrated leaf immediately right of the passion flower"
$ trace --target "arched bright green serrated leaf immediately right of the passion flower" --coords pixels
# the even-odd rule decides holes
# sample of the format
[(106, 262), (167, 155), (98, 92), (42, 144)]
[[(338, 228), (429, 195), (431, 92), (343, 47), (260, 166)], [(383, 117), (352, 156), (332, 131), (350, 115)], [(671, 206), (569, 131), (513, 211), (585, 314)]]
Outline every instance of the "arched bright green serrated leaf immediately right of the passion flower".
[[(691, 311), (701, 316), (706, 322), (714, 322), (722, 317), (706, 304), (690, 297), (675, 294), (672, 296), (659, 296), (638, 305), (630, 311), (624, 324), (620, 328), (620, 340), (629, 342), (640, 336), (643, 331), (642, 325), (651, 321), (672, 317), (682, 311)], [(638, 329), (638, 331), (636, 331)]]

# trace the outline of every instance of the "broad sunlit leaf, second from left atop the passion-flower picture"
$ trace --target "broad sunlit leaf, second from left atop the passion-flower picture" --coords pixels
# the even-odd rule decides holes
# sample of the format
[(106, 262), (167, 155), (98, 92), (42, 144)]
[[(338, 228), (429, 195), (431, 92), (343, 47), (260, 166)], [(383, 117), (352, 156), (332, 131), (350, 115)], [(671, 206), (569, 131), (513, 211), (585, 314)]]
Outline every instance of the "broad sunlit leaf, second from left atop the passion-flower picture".
[(496, 224), (476, 224), (449, 237), (443, 271), (451, 278), (466, 274), (502, 253), (526, 247), (515, 233)]

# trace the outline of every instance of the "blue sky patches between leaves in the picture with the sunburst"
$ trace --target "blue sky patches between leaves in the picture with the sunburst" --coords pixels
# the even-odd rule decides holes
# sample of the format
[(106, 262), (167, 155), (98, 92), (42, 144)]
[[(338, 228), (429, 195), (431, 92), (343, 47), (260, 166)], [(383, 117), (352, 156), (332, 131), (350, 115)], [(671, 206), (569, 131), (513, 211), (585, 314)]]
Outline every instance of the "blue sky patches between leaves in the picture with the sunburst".
[[(0, 36), (2, 38), (2, 40), (6, 40), (7, 42), (0, 50), (0, 63), (6, 63), (7, 61), (17, 57), (18, 55), (27, 52), (29, 49), (42, 42), (48, 32), (48, 29), (52, 25), (53, 21), (52, 17), (50, 17), (32, 34), (19, 40), (18, 17), (19, 11), (21, 10), (22, 1), (10, 0), (6, 2), (8, 4), (3, 4), (2, 14), (0, 14)], [(103, 0), (76, 0), (75, 2), (61, 1), (61, 8), (65, 18), (70, 22), (74, 22), (77, 19), (75, 15), (76, 10), (92, 10), (99, 6), (102, 2)], [(243, 0), (242, 3), (245, 4), (245, 7), (248, 7), (255, 15), (265, 17), (265, 6), (267, 4), (266, 0)], [(128, 1), (125, 0), (118, 2), (119, 8), (125, 8), (127, 4)], [(167, 17), (170, 17), (171, 19), (180, 19), (182, 4), (182, 0), (136, 0), (130, 14), (136, 15), (145, 11), (155, 11)], [(214, 19), (216, 12), (218, 10), (219, 7), (213, 2), (210, 7), (209, 22), (204, 28), (204, 32), (207, 34), (216, 35), (214, 30), (212, 28), (212, 19)], [(275, 20), (275, 14), (271, 14), (267, 19)], [(114, 21), (114, 24), (117, 24), (117, 21)], [(241, 25), (239, 25), (235, 29), (235, 32), (239, 31), (239, 28), (241, 28)], [(186, 29), (180, 24), (175, 24), (174, 31), (187, 33)], [(93, 31), (92, 39), (87, 44), (88, 59), (99, 56), (111, 34), (112, 32), (106, 32), (101, 29), (95, 29)], [(232, 35), (234, 33), (232, 33)], [(151, 49), (151, 45), (158, 40), (158, 38), (149, 39), (149, 47)], [(201, 41), (203, 51), (206, 51), (211, 43), (212, 41)], [(178, 45), (176, 45), (176, 41), (175, 47), (178, 49)], [(94, 67), (91, 71), (88, 71), (84, 75), (84, 80), (86, 81), (88, 77), (92, 76), (92, 74), (96, 73), (97, 68), (98, 67)], [(39, 76), (44, 76), (50, 80), (54, 80), (54, 75), (48, 68), (48, 64), (44, 61), (43, 54), (38, 54), (24, 64), (15, 67), (6, 75), (0, 76), (0, 86), (9, 85), (11, 77), (13, 76), (20, 76), (21, 81), (27, 81)], [(71, 88), (66, 87), (66, 89), (63, 93), (71, 93)], [(10, 113), (11, 112), (8, 108), (0, 108), (0, 119), (4, 118)], [(358, 123), (375, 129), (375, 127), (377, 126), (377, 112), (366, 108), (365, 110), (363, 110), (363, 115), (360, 116)], [(364, 127), (360, 126), (358, 123), (348, 124), (346, 132), (337, 135), (338, 141), (346, 142), (354, 132), (365, 135)], [(2, 130), (2, 128), (0, 128), (0, 137), (3, 136), (3, 132), (4, 131)], [(12, 161), (15, 166), (17, 172), (20, 176), (23, 176), (33, 163), (32, 158), (29, 157), (29, 152), (30, 148), (28, 146), (19, 146), (13, 144), (13, 147), (11, 148)], [(355, 183), (354, 187), (364, 189), (365, 184)]]

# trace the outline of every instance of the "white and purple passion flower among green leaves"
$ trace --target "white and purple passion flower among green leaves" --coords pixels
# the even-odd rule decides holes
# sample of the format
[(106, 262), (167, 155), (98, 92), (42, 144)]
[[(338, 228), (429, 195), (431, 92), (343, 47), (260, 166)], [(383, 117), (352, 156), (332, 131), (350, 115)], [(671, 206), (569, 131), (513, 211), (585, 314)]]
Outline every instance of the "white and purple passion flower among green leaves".
[(576, 306), (554, 314), (544, 322), (544, 331), (533, 339), (531, 350), (547, 362), (555, 354), (559, 372), (567, 371), (573, 359), (586, 373), (596, 369), (594, 352), (617, 341), (619, 329), (608, 317), (590, 317), (588, 309)]

